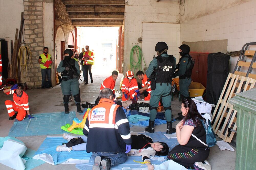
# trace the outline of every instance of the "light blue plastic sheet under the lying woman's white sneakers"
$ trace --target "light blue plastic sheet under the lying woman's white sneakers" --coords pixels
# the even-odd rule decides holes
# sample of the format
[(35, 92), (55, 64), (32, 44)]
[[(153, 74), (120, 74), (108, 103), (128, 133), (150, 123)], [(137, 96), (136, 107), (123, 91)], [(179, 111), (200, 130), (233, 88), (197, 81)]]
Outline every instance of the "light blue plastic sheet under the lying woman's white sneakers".
[[(62, 143), (67, 143), (66, 139), (63, 137), (53, 137), (48, 136), (44, 142), (41, 144), (39, 149), (36, 151), (35, 155), (39, 154), (47, 154), (48, 156), (52, 156), (54, 165), (61, 164), (66, 162), (68, 159), (76, 159), (76, 160), (90, 160), (91, 153), (87, 153), (85, 151), (70, 151), (70, 152), (57, 152), (56, 147), (58, 145), (62, 145)], [(48, 162), (49, 163), (49, 162)], [(68, 163), (68, 162), (66, 162)]]

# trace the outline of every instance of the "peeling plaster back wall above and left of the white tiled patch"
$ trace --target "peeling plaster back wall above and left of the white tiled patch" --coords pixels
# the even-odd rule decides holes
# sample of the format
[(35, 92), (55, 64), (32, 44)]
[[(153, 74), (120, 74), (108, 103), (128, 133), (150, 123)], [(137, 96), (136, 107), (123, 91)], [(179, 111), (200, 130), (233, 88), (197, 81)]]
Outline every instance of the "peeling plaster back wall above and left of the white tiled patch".
[[(130, 51), (138, 43), (138, 38), (142, 37), (142, 22), (179, 23), (178, 9), (177, 1), (125, 1), (124, 73), (130, 69)], [(142, 43), (138, 43), (138, 46), (142, 47)]]

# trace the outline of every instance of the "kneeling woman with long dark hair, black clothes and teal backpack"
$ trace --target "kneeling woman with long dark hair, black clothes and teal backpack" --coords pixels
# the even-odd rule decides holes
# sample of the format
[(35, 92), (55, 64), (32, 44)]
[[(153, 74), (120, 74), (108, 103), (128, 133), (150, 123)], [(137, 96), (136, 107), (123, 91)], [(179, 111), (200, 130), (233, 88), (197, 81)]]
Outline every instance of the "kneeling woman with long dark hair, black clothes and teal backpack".
[(206, 147), (191, 135), (193, 133), (197, 138), (206, 143), (206, 132), (200, 121), (200, 119), (204, 118), (198, 113), (196, 104), (191, 99), (182, 101), (180, 110), (184, 119), (176, 125), (179, 145), (169, 152), (167, 160), (173, 160), (187, 169), (211, 169), (210, 165), (202, 163), (209, 156), (209, 147)]

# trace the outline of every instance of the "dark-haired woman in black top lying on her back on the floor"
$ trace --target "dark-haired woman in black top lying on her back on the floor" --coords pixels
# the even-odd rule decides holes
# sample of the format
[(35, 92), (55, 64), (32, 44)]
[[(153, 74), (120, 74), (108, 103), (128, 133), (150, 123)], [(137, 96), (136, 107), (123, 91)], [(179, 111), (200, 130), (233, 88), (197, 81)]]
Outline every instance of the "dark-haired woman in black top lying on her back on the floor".
[[(165, 156), (168, 155), (169, 147), (164, 142), (153, 142), (151, 137), (146, 135), (137, 134), (136, 132), (131, 132), (132, 138), (132, 149), (128, 154), (135, 156), (142, 156), (142, 160), (146, 162), (145, 164), (148, 167), (148, 170), (153, 170), (154, 166), (150, 163), (150, 156)], [(67, 133), (63, 133), (63, 138), (70, 141), (73, 138), (77, 138)], [(86, 150), (86, 136), (79, 136), (85, 143), (74, 145), (73, 147), (66, 147), (66, 144), (57, 146), (56, 151), (83, 151)], [(95, 158), (96, 159), (96, 158)]]

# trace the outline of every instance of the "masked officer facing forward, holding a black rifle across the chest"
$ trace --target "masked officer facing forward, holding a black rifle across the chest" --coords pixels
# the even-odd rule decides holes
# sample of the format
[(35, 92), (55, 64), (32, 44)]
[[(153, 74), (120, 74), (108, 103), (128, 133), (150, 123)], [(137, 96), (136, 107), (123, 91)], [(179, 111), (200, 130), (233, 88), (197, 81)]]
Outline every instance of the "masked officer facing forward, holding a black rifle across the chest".
[(82, 113), (80, 107), (80, 94), (79, 94), (79, 82), (78, 76), (80, 75), (80, 68), (75, 59), (71, 58), (73, 56), (73, 51), (71, 49), (66, 49), (64, 51), (65, 57), (60, 62), (57, 71), (61, 72), (61, 90), (63, 94), (63, 103), (65, 107), (65, 113), (69, 113), (68, 103), (70, 91), (74, 95), (74, 101), (77, 105), (77, 112)]

